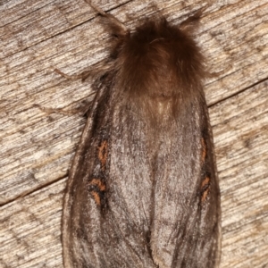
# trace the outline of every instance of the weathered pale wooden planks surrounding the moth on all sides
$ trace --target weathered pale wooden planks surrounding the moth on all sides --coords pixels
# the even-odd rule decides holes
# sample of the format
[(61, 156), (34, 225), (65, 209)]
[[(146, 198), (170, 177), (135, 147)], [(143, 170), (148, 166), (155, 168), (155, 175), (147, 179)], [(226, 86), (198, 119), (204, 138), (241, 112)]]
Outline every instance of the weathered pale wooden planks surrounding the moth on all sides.
[[(99, 1), (133, 29), (147, 1)], [(178, 22), (205, 1), (155, 1)], [(83, 0), (0, 1), (0, 267), (63, 267), (63, 190), (85, 119), (67, 110), (90, 82), (65, 80), (105, 57)], [(268, 267), (268, 0), (211, 1), (198, 29), (217, 78), (205, 83), (222, 192), (221, 268)]]

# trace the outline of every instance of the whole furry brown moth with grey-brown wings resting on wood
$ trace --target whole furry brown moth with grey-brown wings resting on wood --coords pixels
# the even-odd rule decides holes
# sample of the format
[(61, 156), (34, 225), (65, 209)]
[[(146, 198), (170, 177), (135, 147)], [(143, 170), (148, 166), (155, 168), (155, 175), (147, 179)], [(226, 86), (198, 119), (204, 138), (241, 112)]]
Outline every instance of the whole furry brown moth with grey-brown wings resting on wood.
[(63, 205), (65, 267), (218, 267), (220, 190), (194, 40), (151, 18), (130, 33), (95, 5), (110, 54), (90, 76), (96, 96)]

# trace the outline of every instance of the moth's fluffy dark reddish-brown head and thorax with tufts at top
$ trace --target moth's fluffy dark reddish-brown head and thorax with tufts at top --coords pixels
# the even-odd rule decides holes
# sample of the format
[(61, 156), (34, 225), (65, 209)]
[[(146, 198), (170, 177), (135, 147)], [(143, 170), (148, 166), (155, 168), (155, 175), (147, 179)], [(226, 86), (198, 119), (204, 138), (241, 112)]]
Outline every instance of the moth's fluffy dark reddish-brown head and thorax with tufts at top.
[(204, 59), (193, 38), (201, 13), (180, 25), (154, 17), (139, 23), (131, 33), (121, 21), (105, 14), (105, 28), (112, 37), (115, 86), (143, 107), (172, 113), (177, 113), (193, 91), (202, 92)]

